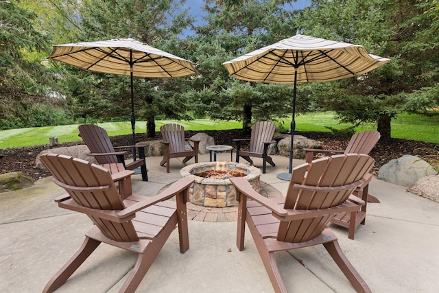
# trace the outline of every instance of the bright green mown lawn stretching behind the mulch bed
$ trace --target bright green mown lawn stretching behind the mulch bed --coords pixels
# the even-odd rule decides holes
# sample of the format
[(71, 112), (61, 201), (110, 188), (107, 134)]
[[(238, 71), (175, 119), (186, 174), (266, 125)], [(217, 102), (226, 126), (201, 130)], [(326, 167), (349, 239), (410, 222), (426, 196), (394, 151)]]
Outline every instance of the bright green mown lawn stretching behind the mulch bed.
[[(156, 121), (156, 130), (160, 126), (167, 124), (169, 120)], [(186, 130), (228, 130), (241, 128), (237, 121), (211, 121), (209, 119), (196, 119), (193, 121), (177, 121), (178, 124), (185, 126)], [(289, 128), (290, 121), (285, 119), (284, 126)], [(121, 134), (131, 134), (130, 122), (108, 122), (99, 124), (105, 128), (108, 135), (115, 136)], [(337, 124), (333, 119), (332, 113), (311, 113), (298, 115), (296, 117), (297, 131), (317, 131), (328, 132), (325, 128), (347, 128), (349, 124)], [(362, 130), (375, 130), (376, 124), (364, 124), (357, 128)], [(60, 143), (68, 141), (80, 141), (78, 137), (78, 124), (66, 126), (47, 126), (37, 128), (19, 128), (0, 131), (0, 148), (21, 148), (31, 145), (44, 145), (49, 143), (49, 137), (58, 137)], [(136, 133), (145, 133), (145, 121), (136, 122)], [(399, 139), (410, 139), (415, 141), (427, 141), (439, 143), (439, 116), (425, 117), (421, 115), (400, 115), (392, 120), (392, 137)]]

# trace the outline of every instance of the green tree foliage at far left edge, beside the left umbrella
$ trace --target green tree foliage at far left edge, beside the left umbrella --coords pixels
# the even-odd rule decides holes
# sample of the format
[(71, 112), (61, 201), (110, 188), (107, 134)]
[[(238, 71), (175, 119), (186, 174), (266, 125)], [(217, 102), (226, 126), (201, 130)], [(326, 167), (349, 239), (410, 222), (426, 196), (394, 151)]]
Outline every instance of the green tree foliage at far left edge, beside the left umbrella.
[(42, 65), (50, 38), (37, 30), (38, 16), (19, 4), (0, 1), (1, 128), (21, 124), (20, 119), (26, 120), (39, 104), (50, 103), (54, 85)]

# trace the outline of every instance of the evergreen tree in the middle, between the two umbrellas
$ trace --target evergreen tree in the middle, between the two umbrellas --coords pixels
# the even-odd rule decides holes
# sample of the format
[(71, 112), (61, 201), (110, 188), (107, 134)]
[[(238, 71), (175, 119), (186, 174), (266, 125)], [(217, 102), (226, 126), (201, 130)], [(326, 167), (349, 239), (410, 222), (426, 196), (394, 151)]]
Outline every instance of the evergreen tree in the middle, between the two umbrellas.
[(292, 1), (207, 1), (206, 25), (196, 28), (188, 49), (201, 76), (187, 96), (198, 115), (235, 119), (249, 129), (254, 121), (291, 113), (291, 86), (242, 82), (228, 78), (222, 63), (291, 36)]

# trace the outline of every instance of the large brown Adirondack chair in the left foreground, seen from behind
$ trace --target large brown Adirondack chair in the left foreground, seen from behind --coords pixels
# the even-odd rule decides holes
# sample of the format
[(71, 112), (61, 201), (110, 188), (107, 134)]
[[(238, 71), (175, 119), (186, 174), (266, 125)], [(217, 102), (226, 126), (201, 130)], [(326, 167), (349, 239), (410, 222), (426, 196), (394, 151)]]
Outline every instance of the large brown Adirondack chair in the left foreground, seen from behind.
[[(189, 249), (186, 202), (193, 180), (182, 178), (152, 198), (134, 194), (122, 198), (110, 172), (100, 165), (60, 154), (43, 154), (41, 161), (52, 180), (67, 191), (56, 198), (58, 206), (85, 213), (94, 223), (78, 252), (43, 292), (60, 288), (102, 242), (139, 254), (119, 292), (136, 290), (176, 225), (180, 253)], [(169, 200), (174, 196), (176, 201)]]

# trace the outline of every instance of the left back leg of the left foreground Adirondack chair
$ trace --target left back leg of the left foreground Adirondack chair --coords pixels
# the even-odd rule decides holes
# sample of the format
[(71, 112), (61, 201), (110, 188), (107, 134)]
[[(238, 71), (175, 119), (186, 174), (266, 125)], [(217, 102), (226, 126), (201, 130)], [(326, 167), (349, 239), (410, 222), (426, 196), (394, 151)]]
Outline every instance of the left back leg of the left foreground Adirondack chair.
[(43, 292), (54, 292), (62, 286), (62, 284), (69, 279), (69, 277), (77, 270), (81, 264), (93, 253), (93, 251), (99, 246), (101, 242), (86, 237), (82, 246), (78, 251), (67, 261), (64, 266), (58, 270), (58, 272), (47, 283)]

